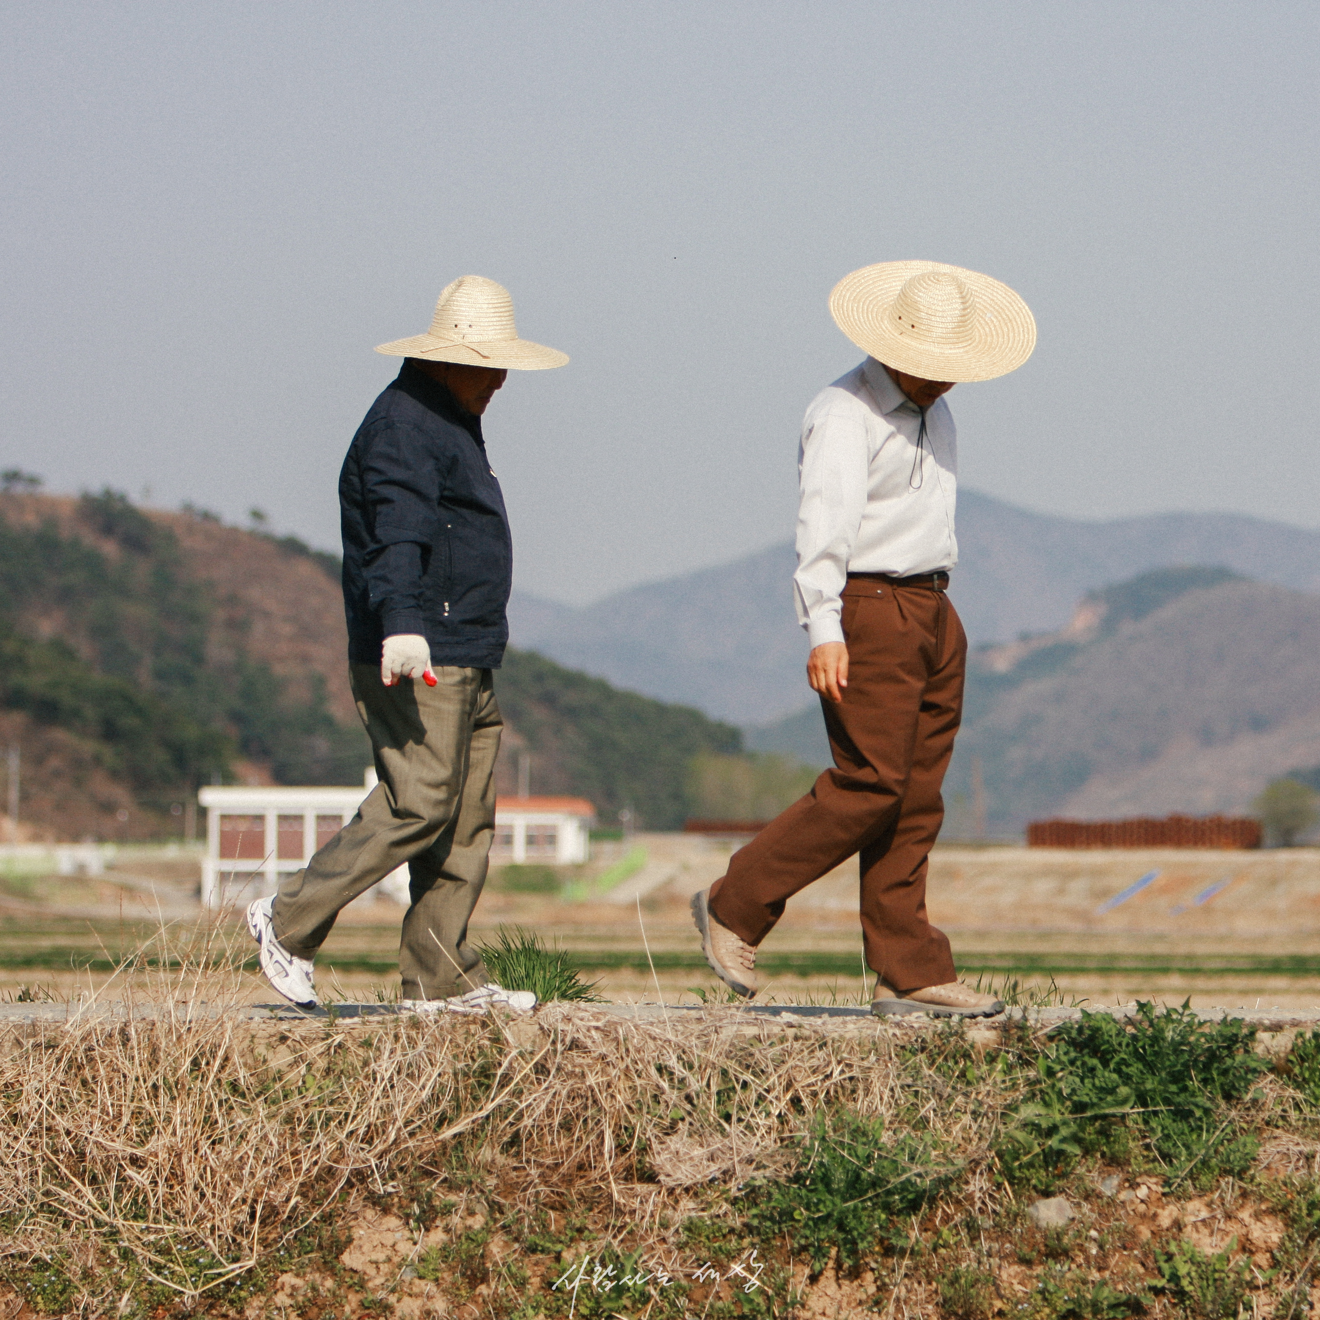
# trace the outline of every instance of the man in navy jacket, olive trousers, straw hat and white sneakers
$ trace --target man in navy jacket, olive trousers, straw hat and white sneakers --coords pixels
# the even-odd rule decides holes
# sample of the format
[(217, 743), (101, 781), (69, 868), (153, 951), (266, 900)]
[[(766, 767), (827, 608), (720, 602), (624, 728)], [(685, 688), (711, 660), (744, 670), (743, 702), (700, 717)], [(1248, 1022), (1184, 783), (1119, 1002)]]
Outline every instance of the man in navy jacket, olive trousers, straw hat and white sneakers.
[(441, 293), (428, 334), (376, 351), (405, 360), (348, 446), (339, 510), (350, 677), (379, 783), (275, 898), (251, 904), (248, 928), (271, 985), (312, 1006), (313, 958), (339, 909), (407, 862), (403, 1006), (525, 1011), (536, 997), (495, 985), (467, 944), (495, 829), (491, 671), (512, 578), (480, 418), (510, 368), (568, 358), (519, 339), (508, 290), (474, 275)]

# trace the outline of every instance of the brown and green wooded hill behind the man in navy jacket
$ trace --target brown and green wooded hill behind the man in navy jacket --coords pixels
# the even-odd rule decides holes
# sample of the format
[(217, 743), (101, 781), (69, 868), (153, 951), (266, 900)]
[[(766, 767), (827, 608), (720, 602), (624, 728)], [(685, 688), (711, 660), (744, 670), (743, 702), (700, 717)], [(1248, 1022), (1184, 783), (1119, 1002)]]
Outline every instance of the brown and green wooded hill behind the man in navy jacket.
[[(20, 818), (147, 837), (177, 833), (170, 808), (198, 784), (360, 783), (338, 573), (205, 511), (0, 495), (0, 742), (21, 747)], [(533, 792), (581, 793), (603, 818), (631, 807), (672, 828), (692, 758), (741, 750), (729, 725), (531, 653), (510, 652), (496, 690)], [(503, 792), (513, 774), (503, 756)]]

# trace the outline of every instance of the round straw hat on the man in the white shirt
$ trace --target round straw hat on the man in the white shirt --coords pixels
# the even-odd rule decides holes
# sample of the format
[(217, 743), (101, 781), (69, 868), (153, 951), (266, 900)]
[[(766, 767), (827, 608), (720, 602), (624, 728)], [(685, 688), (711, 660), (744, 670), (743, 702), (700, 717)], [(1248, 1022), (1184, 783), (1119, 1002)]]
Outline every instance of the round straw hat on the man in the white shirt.
[(1036, 346), (1031, 310), (1007, 284), (941, 261), (863, 265), (834, 285), (829, 310), (859, 348), (923, 380), (993, 380)]

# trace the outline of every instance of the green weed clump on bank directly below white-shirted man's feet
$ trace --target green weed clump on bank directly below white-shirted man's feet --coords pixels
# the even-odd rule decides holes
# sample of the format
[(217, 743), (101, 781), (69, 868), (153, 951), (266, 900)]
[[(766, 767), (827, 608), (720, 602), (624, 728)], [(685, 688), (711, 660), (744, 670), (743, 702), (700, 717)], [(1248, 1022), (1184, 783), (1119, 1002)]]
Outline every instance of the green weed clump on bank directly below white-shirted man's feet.
[(813, 1271), (834, 1247), (851, 1270), (886, 1246), (907, 1247), (909, 1220), (954, 1173), (928, 1139), (903, 1133), (886, 1142), (880, 1119), (841, 1109), (816, 1118), (796, 1171), (762, 1187), (747, 1220), (763, 1237), (787, 1234)]

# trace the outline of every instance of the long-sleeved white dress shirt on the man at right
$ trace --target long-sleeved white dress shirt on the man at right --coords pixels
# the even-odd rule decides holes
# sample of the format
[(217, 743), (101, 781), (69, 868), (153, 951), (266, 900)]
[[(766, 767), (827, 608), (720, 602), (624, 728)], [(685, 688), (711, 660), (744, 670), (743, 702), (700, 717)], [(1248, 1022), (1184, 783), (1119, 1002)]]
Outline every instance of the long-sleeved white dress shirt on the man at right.
[(936, 573), (958, 562), (958, 440), (944, 399), (921, 411), (867, 358), (807, 409), (797, 449), (797, 622), (842, 642), (849, 573)]

